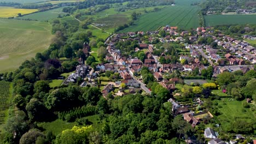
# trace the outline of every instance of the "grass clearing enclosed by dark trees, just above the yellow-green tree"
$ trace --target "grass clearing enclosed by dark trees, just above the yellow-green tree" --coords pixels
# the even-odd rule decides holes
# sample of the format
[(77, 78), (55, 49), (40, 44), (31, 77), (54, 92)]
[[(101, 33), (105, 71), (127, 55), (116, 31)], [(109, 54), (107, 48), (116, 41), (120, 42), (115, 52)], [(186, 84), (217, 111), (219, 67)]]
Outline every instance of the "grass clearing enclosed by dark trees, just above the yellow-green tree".
[(38, 127), (44, 128), (46, 133), (48, 131), (52, 131), (53, 134), (56, 136), (60, 134), (61, 131), (63, 130), (73, 128), (74, 125), (75, 125), (75, 122), (69, 123), (66, 121), (62, 121), (61, 119), (57, 119), (56, 121), (53, 121), (53, 122), (38, 123)]

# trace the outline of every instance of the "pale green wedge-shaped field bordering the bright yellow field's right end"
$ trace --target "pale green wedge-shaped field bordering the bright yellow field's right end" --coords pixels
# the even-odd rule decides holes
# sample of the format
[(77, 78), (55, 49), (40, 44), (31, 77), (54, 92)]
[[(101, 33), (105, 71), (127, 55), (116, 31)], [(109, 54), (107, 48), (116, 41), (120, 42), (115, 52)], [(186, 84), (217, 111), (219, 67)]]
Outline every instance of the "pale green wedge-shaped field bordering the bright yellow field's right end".
[(62, 9), (63, 7), (46, 10), (40, 13), (25, 15), (25, 16), (19, 17), (19, 19), (31, 19), (31, 20), (38, 20), (38, 21), (51, 20), (51, 19), (57, 18), (59, 15), (60, 16), (66, 15), (66, 13), (62, 12)]

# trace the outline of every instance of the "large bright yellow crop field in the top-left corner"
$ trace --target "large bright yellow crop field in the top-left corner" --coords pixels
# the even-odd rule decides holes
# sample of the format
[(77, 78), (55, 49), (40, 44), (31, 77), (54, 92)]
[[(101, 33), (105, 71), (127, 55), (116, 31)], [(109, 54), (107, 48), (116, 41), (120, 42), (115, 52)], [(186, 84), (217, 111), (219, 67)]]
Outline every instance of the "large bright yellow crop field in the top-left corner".
[(19, 13), (22, 15), (24, 14), (30, 14), (35, 11), (38, 11), (37, 9), (15, 9), (14, 7), (0, 7), (0, 17), (16, 17)]

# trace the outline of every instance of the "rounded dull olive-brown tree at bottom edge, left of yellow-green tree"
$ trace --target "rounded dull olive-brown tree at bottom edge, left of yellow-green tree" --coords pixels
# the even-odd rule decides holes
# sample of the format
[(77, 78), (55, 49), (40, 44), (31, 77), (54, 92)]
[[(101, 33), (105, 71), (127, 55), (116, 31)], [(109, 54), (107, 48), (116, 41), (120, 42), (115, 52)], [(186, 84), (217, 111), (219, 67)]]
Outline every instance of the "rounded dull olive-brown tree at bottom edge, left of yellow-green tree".
[(43, 137), (44, 134), (37, 129), (31, 129), (27, 133), (21, 136), (20, 144), (34, 144), (38, 137)]

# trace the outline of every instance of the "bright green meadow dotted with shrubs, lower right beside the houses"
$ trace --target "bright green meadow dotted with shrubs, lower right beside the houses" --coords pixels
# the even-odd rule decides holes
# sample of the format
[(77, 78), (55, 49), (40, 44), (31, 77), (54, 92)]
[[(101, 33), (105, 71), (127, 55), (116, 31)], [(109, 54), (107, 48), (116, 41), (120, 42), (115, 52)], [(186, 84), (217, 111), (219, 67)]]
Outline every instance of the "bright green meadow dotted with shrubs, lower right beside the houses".
[[(246, 109), (242, 106), (242, 101), (230, 100), (230, 98), (222, 98), (218, 100), (218, 111), (222, 113), (217, 116), (218, 120), (222, 124), (222, 128), (228, 129), (231, 127), (231, 123), (235, 119), (241, 119), (242, 121), (254, 121), (256, 113), (251, 109)], [(254, 120), (253, 120), (254, 119)]]

